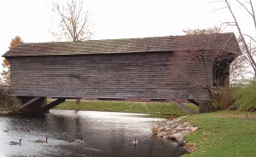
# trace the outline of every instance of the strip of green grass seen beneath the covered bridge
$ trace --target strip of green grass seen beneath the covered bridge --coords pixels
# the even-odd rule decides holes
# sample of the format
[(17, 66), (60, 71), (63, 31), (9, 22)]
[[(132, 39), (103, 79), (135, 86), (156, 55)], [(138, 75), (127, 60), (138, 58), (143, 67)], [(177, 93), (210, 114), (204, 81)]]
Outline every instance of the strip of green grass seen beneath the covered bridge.
[[(50, 102), (50, 100), (48, 100)], [(186, 105), (198, 111), (193, 104)], [(79, 105), (74, 100), (67, 100), (55, 107), (56, 109), (74, 109), (86, 111), (109, 111), (125, 113), (152, 113), (161, 115), (186, 115), (183, 110), (168, 102), (114, 102), (114, 101), (81, 101)]]

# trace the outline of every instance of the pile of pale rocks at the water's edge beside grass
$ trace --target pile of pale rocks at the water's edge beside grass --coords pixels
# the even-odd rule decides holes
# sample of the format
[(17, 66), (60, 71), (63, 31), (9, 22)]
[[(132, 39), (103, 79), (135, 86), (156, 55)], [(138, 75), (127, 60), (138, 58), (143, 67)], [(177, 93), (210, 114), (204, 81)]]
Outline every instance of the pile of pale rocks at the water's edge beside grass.
[(189, 122), (180, 123), (181, 118), (167, 120), (154, 128), (154, 134), (158, 137), (163, 137), (176, 141), (179, 145), (183, 146), (186, 142), (185, 137), (190, 132), (196, 131), (198, 127), (190, 125)]

